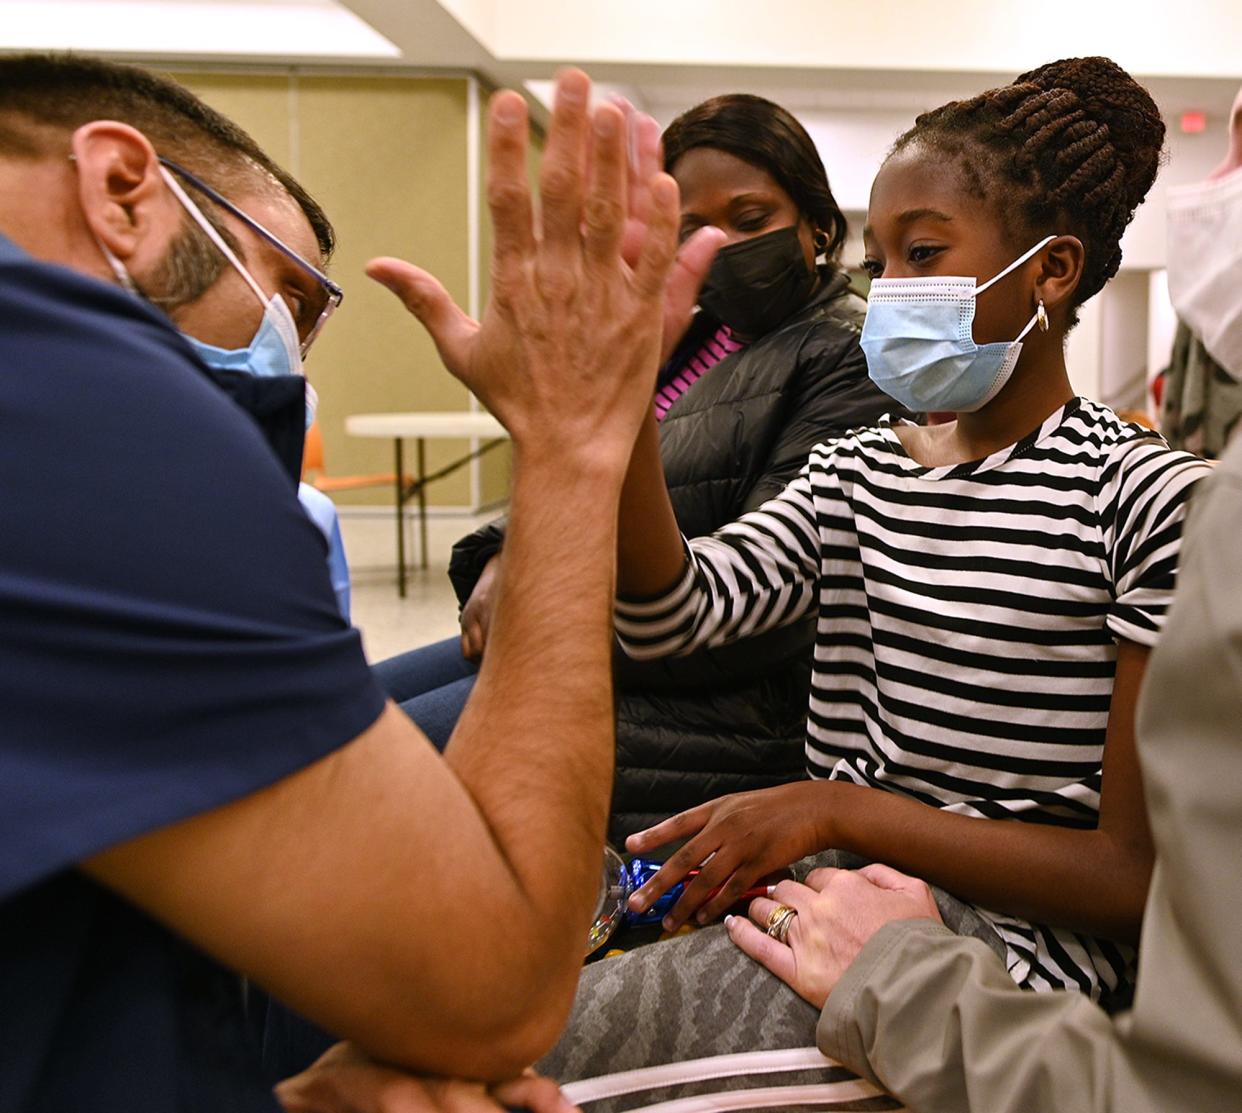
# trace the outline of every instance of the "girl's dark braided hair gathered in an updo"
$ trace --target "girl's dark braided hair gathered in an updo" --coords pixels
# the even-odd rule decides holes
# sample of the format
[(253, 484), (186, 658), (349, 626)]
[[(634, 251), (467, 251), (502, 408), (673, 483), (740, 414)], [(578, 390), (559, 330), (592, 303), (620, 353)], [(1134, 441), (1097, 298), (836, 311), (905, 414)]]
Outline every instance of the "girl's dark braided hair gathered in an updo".
[(917, 144), (956, 158), (1015, 247), (1077, 236), (1086, 253), (1077, 307), (1117, 273), (1122, 234), (1155, 181), (1164, 137), (1151, 96), (1120, 66), (1064, 58), (923, 113), (893, 149)]

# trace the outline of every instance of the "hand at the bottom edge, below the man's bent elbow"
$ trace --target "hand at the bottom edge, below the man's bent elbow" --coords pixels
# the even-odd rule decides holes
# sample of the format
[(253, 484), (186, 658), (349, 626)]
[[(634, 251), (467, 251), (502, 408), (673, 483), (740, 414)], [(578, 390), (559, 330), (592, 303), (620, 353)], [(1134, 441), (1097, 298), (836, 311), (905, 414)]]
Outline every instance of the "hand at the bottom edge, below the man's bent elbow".
[(486, 1087), (452, 1078), (419, 1078), (338, 1043), (301, 1074), (276, 1087), (284, 1113), (571, 1113), (554, 1082), (527, 1073)]

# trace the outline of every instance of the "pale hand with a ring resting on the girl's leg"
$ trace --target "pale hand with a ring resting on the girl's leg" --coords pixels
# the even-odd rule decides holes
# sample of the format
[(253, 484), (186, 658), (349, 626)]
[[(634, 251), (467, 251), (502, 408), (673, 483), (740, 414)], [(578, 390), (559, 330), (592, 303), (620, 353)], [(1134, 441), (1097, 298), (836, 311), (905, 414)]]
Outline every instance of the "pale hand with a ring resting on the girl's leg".
[[(768, 917), (780, 904), (797, 912), (784, 943), (766, 932)], [(922, 917), (940, 920), (925, 882), (888, 866), (864, 866), (812, 870), (806, 884), (782, 881), (773, 899), (750, 902), (750, 919), (730, 915), (725, 927), (729, 938), (750, 958), (822, 1009), (846, 968), (876, 932), (892, 920)]]

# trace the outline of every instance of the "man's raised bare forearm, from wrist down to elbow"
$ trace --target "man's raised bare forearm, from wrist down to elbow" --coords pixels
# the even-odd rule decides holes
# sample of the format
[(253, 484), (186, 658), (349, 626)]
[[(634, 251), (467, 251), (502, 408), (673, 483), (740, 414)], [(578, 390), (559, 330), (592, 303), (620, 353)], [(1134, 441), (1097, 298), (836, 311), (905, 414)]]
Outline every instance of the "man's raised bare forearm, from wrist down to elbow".
[(599, 888), (620, 482), (584, 461), (519, 451), (488, 650), (445, 754), (551, 956), (580, 955)]

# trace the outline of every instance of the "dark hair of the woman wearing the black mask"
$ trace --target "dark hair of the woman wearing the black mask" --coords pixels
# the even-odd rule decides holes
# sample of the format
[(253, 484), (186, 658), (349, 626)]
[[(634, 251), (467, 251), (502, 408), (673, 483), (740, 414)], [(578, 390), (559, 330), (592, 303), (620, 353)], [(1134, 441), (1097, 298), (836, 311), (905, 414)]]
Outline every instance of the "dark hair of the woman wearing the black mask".
[(664, 169), (671, 174), (688, 150), (710, 147), (771, 174), (827, 237), (836, 258), (846, 242), (846, 216), (832, 196), (823, 159), (786, 109), (750, 93), (712, 97), (683, 112), (664, 132)]

